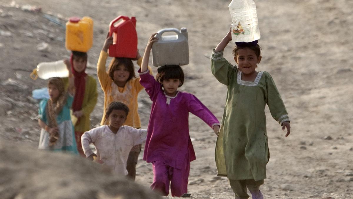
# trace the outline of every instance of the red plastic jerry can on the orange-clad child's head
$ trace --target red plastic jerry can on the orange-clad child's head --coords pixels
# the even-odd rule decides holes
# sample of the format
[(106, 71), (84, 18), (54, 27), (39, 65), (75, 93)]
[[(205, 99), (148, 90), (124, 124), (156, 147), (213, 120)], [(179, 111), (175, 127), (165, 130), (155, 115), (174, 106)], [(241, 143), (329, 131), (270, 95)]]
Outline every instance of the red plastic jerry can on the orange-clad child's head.
[(127, 16), (116, 17), (109, 24), (109, 36), (113, 37), (113, 44), (109, 46), (109, 57), (135, 58), (137, 56), (135, 17), (131, 19)]

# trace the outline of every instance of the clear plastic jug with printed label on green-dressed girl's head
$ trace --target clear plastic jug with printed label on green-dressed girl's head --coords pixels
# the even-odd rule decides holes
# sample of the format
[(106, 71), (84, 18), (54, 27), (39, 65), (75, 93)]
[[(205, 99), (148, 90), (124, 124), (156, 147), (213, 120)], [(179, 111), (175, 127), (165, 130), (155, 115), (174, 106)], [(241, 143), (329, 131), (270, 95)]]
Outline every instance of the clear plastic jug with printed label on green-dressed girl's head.
[(260, 39), (255, 2), (232, 0), (228, 7), (232, 16), (232, 41), (251, 42)]

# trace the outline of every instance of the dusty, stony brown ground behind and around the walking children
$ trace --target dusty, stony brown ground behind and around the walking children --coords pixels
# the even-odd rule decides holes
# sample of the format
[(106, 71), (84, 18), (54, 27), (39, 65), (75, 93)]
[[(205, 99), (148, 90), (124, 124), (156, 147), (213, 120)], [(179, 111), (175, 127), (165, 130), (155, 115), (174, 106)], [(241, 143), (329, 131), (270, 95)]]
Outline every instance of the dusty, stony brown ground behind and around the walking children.
[[(227, 88), (211, 74), (209, 57), (229, 29), (229, 2), (0, 0), (0, 149), (2, 154), (6, 154), (0, 158), (1, 174), (6, 174), (6, 167), (12, 168), (21, 161), (17, 156), (24, 153), (24, 147), (31, 151), (30, 158), (26, 159), (29, 164), (31, 159), (35, 159), (40, 165), (45, 165), (51, 157), (35, 150), (40, 127), (36, 120), (38, 101), (31, 97), (32, 90), (45, 87), (46, 81), (34, 81), (29, 74), (40, 62), (56, 61), (70, 55), (64, 41), (64, 25), (70, 16), (89, 16), (94, 20), (94, 43), (88, 53), (87, 72), (95, 78), (96, 63), (109, 22), (115, 17), (137, 18), (141, 54), (152, 33), (162, 28), (186, 27), (190, 64), (183, 66), (186, 79), (180, 89), (196, 95), (221, 120)], [(274, 78), (292, 127), (291, 135), (285, 138), (285, 133), (266, 108), (271, 157), (261, 192), (265, 198), (353, 198), (353, 1), (255, 2), (261, 32), (259, 45), (263, 49), (258, 70), (265, 70)], [(229, 61), (233, 59), (232, 47), (230, 43), (225, 49), (225, 57)], [(91, 114), (92, 127), (99, 124), (102, 116), (103, 92), (99, 86), (98, 93), (98, 103)], [(149, 97), (142, 91), (139, 114), (143, 128), (148, 124), (150, 106)], [(197, 158), (191, 163), (188, 187), (191, 198), (234, 198), (227, 178), (216, 176), (216, 136), (212, 130), (202, 120), (190, 115), (190, 135)], [(148, 188), (153, 179), (152, 167), (142, 160), (142, 153), (136, 182)], [(85, 161), (79, 158), (60, 158), (50, 160), (66, 158), (66, 161), (77, 161), (85, 168), (84, 171), (94, 165), (81, 163)], [(82, 172), (72, 167), (67, 170), (76, 177), (70, 180), (77, 181)], [(55, 169), (58, 167), (53, 167), (53, 172)], [(47, 166), (46, 170), (49, 172), (50, 167)], [(25, 180), (20, 176), (25, 175), (24, 172), (12, 171), (14, 176), (8, 177), (10, 174), (7, 174), (8, 179), (18, 179), (32, 189), (37, 189), (35, 184), (43, 180)], [(50, 183), (56, 178), (58, 175), (48, 175), (44, 180), (48, 182), (47, 186), (53, 186), (51, 191), (58, 192), (53, 194), (54, 198), (70, 198), (60, 197), (58, 190), (62, 189), (56, 189), (58, 185)], [(92, 178), (92, 181), (98, 178)], [(3, 179), (0, 178), (0, 198), (14, 198), (2, 194), (6, 194), (4, 190), (11, 187), (11, 183), (16, 185), (18, 181)], [(95, 183), (92, 181), (84, 183)], [(101, 182), (97, 180), (96, 183)], [(25, 190), (21, 186), (13, 187), (17, 187), (16, 193)], [(104, 192), (102, 198), (108, 198), (105, 193), (109, 194)], [(23, 194), (17, 198), (27, 198)]]

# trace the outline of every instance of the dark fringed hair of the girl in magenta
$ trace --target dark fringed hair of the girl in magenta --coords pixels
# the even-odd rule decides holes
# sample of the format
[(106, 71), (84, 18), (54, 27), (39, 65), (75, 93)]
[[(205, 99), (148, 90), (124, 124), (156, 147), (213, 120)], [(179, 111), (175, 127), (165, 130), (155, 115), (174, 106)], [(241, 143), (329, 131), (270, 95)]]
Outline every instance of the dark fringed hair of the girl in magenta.
[(184, 72), (178, 65), (165, 65), (157, 69), (156, 80), (162, 83), (163, 80), (167, 79), (179, 79), (180, 84), (178, 87), (184, 84)]

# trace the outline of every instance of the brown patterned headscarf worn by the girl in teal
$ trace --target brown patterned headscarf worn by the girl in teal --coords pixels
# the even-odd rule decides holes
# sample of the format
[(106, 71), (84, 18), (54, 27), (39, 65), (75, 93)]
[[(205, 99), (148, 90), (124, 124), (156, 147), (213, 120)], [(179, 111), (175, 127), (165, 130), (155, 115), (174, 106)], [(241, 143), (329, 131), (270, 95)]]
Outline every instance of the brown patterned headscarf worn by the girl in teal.
[[(58, 127), (56, 122), (56, 116), (61, 112), (62, 107), (66, 104), (67, 93), (65, 92), (64, 82), (61, 78), (50, 78), (48, 86), (53, 85), (59, 91), (59, 96), (54, 102), (52, 99), (48, 99), (46, 106), (46, 115), (48, 117), (48, 126), (50, 128)], [(49, 134), (49, 146), (54, 146), (55, 142), (59, 140), (59, 133)]]

